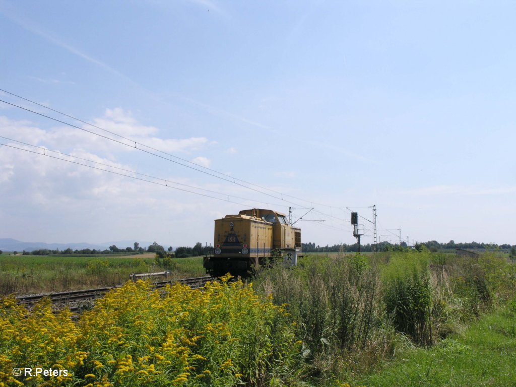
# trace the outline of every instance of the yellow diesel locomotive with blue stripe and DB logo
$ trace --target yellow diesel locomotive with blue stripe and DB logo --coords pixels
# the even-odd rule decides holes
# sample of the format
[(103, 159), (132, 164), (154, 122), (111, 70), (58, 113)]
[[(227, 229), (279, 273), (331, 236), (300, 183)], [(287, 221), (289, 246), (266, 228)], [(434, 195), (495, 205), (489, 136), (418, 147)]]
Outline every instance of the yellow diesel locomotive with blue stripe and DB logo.
[(285, 263), (296, 265), (301, 229), (288, 224), (285, 214), (244, 209), (215, 220), (214, 253), (204, 257), (203, 266), (213, 276), (227, 272), (245, 276), (266, 263), (275, 249), (281, 251)]

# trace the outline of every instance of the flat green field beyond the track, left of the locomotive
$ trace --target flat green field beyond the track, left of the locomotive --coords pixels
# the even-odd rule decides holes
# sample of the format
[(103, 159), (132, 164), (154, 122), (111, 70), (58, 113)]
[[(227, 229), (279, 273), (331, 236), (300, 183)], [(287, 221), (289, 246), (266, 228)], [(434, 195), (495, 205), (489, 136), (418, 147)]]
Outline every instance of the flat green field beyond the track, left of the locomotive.
[(154, 253), (136, 255), (0, 255), (0, 294), (32, 294), (112, 286), (130, 273), (170, 270), (172, 278), (203, 276), (202, 257), (159, 265)]

